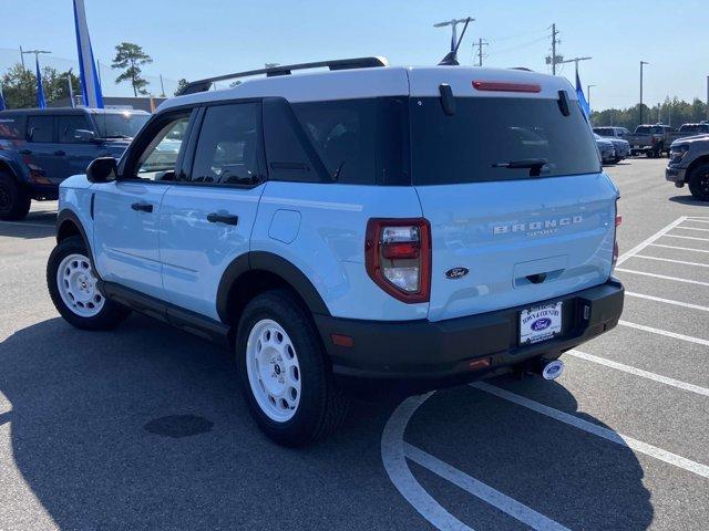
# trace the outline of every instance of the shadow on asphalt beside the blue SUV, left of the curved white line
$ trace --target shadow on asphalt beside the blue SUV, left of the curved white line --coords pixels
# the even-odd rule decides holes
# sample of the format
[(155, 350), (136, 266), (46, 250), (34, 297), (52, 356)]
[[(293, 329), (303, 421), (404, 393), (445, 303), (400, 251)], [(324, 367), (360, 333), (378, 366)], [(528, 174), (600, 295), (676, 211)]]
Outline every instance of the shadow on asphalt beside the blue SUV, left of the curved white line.
[(278, 447), (249, 417), (226, 350), (141, 315), (112, 332), (33, 324), (0, 343), (0, 367), (14, 465), (60, 529), (410, 522), (381, 466), (393, 403), (354, 404), (332, 438)]

